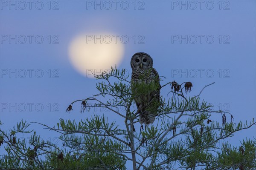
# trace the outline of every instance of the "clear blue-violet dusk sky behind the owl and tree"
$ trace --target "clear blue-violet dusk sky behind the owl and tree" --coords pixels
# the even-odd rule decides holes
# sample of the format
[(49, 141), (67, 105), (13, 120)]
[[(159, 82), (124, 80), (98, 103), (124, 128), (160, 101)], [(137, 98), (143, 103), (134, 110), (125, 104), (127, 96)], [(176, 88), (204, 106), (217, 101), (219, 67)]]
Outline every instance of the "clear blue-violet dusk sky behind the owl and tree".
[[(256, 118), (256, 2), (253, 0), (202, 1), (202, 4), (117, 1), (116, 9), (112, 1), (108, 1), (111, 7), (105, 1), (97, 1), (101, 5), (95, 6), (95, 1), (83, 0), (51, 1), (50, 6), (48, 1), (33, 1), (31, 6), (26, 1), (0, 2), (2, 130), (22, 118), (54, 126), (59, 118), (81, 120), (93, 114), (80, 114), (79, 104), (74, 105), (72, 112), (65, 112), (72, 101), (97, 93), (97, 81), (77, 72), (68, 56), (71, 40), (91, 31), (129, 37), (128, 43), (123, 44), (125, 52), (119, 69), (131, 73), (131, 56), (146, 52), (153, 58), (159, 75), (166, 77), (161, 84), (191, 81), (189, 95), (197, 95), (205, 85), (215, 82), (204, 90), (202, 99), (216, 109), (229, 110), (236, 123)], [(137, 40), (143, 38), (142, 43), (134, 43), (134, 36)], [(44, 41), (38, 43), (41, 37)], [(10, 74), (15, 70), (16, 73)], [(167, 92), (168, 89), (161, 94), (166, 96)], [(221, 122), (221, 115), (213, 118)], [(122, 123), (117, 117), (113, 121)], [(36, 124), (32, 126), (43, 138), (56, 141), (54, 134), (49, 135)], [(236, 146), (246, 137), (256, 137), (255, 126), (229, 140)], [(61, 142), (58, 144), (61, 146)]]

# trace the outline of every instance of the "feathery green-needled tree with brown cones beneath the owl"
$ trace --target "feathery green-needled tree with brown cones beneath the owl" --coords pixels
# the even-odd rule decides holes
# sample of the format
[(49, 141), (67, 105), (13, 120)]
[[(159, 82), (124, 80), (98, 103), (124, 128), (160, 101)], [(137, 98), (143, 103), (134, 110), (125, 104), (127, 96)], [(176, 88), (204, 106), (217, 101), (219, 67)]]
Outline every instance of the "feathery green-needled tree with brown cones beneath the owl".
[[(255, 138), (241, 141), (238, 147), (221, 141), (256, 123), (235, 124), (229, 112), (212, 110), (211, 104), (200, 99), (204, 88), (212, 84), (190, 97), (191, 82), (164, 84), (161, 90), (169, 88), (171, 97), (161, 98), (154, 124), (140, 126), (134, 103), (140, 94), (131, 94), (126, 70), (112, 68), (96, 79), (102, 81), (96, 84), (99, 94), (73, 101), (67, 112), (81, 102), (81, 113), (105, 108), (111, 111), (108, 115), (96, 112), (79, 122), (60, 119), (56, 127), (37, 123), (59, 134), (62, 147), (42, 140), (23, 120), (9, 131), (0, 130), (0, 147), (6, 150), (0, 169), (125, 170), (131, 164), (134, 170), (256, 170)], [(137, 85), (141, 93), (148, 88)], [(111, 121), (113, 114), (123, 121)], [(213, 121), (212, 114), (220, 114), (221, 123)], [(18, 138), (20, 133), (29, 134), (29, 141)]]

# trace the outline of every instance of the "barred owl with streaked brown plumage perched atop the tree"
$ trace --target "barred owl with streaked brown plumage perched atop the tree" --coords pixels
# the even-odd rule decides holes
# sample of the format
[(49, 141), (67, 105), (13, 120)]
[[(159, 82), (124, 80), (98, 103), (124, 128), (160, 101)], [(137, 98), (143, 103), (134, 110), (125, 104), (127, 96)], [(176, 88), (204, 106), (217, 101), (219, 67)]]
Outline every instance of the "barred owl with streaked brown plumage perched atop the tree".
[[(160, 79), (152, 58), (137, 52), (131, 58), (131, 92), (140, 114), (140, 124), (151, 124), (160, 105)], [(143, 91), (144, 90), (144, 91)]]

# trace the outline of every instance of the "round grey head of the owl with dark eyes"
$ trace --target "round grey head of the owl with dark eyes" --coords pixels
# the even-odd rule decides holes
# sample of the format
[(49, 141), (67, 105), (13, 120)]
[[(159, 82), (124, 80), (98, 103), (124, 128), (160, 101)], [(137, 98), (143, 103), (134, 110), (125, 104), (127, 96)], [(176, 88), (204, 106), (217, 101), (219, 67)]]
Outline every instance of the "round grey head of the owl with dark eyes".
[(146, 69), (153, 66), (153, 59), (145, 52), (137, 52), (131, 57), (132, 69)]

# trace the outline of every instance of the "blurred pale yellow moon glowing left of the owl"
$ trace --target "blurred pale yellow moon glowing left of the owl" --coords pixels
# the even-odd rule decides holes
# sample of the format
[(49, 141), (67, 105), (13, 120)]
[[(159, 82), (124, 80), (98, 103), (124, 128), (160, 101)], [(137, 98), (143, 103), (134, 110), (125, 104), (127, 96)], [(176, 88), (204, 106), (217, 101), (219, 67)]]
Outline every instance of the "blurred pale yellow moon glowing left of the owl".
[(114, 34), (90, 33), (75, 37), (69, 46), (69, 57), (74, 68), (94, 78), (118, 65), (124, 54), (124, 46)]

